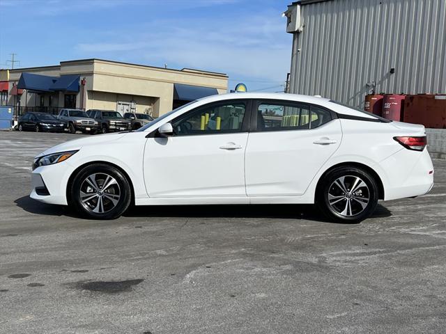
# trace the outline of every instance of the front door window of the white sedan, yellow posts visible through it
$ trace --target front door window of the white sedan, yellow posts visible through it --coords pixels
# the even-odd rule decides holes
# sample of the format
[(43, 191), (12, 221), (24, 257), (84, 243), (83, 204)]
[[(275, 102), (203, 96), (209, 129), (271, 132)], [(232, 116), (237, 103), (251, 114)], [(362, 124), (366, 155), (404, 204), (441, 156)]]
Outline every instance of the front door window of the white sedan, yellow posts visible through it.
[(199, 107), (172, 121), (176, 136), (241, 132), (245, 102)]

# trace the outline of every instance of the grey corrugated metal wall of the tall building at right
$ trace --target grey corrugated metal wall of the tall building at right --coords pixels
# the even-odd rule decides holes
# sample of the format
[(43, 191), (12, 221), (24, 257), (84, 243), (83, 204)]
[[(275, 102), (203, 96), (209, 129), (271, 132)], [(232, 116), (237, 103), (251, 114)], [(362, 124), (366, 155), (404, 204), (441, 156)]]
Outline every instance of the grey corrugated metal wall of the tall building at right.
[(371, 81), (376, 93), (446, 93), (446, 0), (332, 0), (302, 5), (301, 19), (291, 93), (360, 107)]

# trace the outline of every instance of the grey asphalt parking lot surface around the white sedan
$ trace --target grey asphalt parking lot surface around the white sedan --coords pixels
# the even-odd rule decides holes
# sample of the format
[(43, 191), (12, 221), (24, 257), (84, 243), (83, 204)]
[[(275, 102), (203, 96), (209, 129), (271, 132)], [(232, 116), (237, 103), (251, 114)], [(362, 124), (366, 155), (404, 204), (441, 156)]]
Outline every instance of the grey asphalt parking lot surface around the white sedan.
[(445, 160), (360, 224), (286, 205), (89, 221), (28, 197), (33, 157), (79, 136), (0, 132), (1, 333), (444, 332)]

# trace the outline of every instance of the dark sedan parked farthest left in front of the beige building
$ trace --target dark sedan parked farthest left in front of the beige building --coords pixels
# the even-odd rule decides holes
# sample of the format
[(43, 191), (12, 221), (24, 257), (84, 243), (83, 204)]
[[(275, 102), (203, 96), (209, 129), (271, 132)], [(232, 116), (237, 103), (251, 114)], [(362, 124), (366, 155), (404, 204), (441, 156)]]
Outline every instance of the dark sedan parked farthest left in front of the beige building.
[(25, 113), (17, 124), (19, 131), (63, 132), (65, 124), (49, 113)]

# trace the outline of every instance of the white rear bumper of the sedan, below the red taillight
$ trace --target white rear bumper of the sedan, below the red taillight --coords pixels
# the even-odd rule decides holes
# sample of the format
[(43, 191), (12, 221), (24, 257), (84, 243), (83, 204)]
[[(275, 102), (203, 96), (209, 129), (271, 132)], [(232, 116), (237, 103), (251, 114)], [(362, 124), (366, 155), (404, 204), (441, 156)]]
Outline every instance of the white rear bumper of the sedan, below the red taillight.
[(433, 164), (426, 148), (422, 152), (400, 150), (380, 166), (387, 174), (384, 200), (421, 196), (433, 187)]

